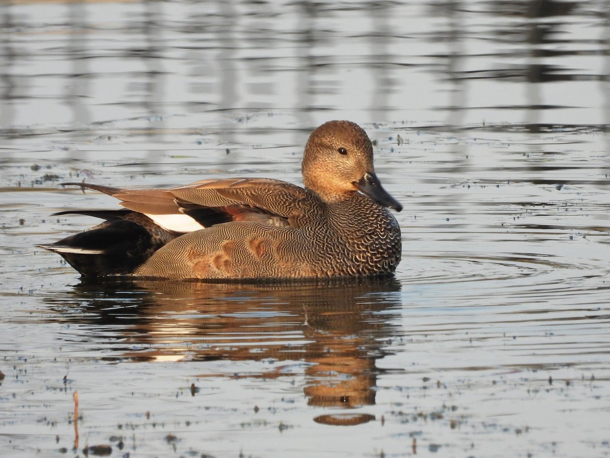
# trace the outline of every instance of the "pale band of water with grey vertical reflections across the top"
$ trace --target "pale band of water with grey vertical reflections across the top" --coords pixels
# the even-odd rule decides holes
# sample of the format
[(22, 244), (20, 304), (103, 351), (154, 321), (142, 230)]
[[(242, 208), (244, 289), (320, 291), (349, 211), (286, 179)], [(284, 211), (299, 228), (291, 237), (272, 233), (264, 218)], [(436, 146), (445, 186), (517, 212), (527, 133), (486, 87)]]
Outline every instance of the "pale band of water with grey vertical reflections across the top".
[(35, 2), (3, 2), (2, 127), (140, 116), (162, 131), (167, 114), (217, 125), (244, 111), (289, 112), (299, 128), (326, 111), (534, 131), (610, 118), (601, 0), (190, 6), (51, 3), (42, 22)]

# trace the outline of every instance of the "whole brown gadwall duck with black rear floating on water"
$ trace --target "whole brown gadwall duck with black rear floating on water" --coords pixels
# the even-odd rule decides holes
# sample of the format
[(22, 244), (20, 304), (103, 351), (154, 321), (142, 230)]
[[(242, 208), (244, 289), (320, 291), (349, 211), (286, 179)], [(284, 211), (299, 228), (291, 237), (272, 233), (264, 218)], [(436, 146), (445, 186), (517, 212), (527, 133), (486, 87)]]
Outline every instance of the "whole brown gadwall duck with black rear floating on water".
[(373, 170), (373, 146), (348, 121), (315, 129), (304, 188), (270, 178), (203, 180), (171, 189), (95, 189), (124, 209), (62, 211), (105, 221), (38, 245), (84, 277), (255, 280), (370, 277), (395, 271), (402, 206)]

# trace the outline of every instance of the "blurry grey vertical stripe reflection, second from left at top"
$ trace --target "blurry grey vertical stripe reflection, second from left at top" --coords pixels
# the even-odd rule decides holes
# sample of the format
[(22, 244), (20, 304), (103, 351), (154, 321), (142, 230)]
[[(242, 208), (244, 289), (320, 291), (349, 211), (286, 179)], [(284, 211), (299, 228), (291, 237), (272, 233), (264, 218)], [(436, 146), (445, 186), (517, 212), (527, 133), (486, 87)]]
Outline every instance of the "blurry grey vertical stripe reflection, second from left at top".
[[(71, 61), (72, 72), (66, 75), (65, 104), (72, 111), (72, 122), (74, 125), (85, 125), (90, 123), (91, 114), (88, 103), (85, 103), (87, 94), (90, 92), (87, 52), (87, 9), (84, 2), (74, 1), (68, 4), (69, 24), (68, 42), (66, 43), (66, 56)], [(74, 129), (73, 134), (78, 134)]]

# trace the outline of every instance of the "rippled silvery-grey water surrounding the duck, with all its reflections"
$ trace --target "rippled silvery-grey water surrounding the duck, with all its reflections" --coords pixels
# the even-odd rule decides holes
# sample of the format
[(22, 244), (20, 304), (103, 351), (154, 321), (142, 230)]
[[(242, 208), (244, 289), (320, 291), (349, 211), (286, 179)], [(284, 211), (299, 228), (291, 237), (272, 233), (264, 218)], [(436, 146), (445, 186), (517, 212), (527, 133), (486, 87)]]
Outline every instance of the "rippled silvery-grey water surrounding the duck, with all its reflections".
[[(0, 456), (610, 456), (606, 2), (0, 12)], [(404, 205), (395, 280), (89, 284), (33, 247), (116, 205), (62, 181), (300, 183), (333, 118)]]

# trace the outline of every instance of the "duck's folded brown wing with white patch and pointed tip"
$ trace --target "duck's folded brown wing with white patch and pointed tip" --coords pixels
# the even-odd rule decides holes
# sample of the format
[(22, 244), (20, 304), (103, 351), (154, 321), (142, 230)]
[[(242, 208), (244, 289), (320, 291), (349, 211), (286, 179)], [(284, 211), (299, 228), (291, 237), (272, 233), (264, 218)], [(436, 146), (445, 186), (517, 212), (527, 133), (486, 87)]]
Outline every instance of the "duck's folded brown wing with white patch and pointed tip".
[(229, 221), (256, 221), (300, 227), (320, 205), (302, 187), (270, 178), (203, 180), (171, 189), (95, 189), (120, 199), (121, 206), (145, 214), (161, 227), (190, 232)]

